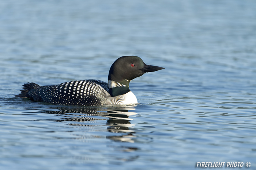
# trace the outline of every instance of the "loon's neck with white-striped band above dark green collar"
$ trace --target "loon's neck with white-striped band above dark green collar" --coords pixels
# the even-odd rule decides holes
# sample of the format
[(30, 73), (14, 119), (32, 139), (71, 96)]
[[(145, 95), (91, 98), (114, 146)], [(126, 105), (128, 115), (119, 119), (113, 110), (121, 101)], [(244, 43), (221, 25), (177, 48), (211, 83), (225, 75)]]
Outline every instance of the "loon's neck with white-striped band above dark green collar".
[(123, 95), (130, 92), (131, 90), (129, 89), (129, 83), (130, 83), (130, 80), (123, 80), (119, 82), (109, 80), (108, 84), (109, 84), (110, 95), (114, 97), (114, 96), (119, 96), (119, 95)]

